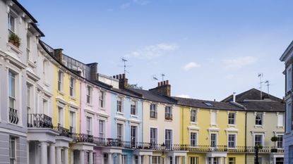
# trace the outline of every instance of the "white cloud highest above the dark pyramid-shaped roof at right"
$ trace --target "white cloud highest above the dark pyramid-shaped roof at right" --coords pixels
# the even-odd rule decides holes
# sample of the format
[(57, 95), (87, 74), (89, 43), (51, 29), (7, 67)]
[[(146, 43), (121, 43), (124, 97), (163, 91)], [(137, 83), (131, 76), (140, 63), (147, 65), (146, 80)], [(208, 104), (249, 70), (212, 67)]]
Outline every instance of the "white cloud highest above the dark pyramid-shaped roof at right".
[(246, 65), (251, 65), (256, 63), (257, 58), (253, 56), (243, 56), (239, 58), (224, 59), (222, 62), (227, 66), (227, 68), (242, 68)]

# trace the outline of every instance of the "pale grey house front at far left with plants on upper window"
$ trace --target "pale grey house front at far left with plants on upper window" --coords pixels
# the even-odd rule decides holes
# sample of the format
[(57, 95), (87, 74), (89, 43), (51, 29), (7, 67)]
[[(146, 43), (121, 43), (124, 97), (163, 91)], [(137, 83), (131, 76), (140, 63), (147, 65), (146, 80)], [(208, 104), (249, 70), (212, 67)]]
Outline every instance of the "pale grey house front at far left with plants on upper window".
[(0, 1), (0, 20), (0, 163), (29, 163), (28, 58), (30, 44), (43, 34), (18, 1)]

